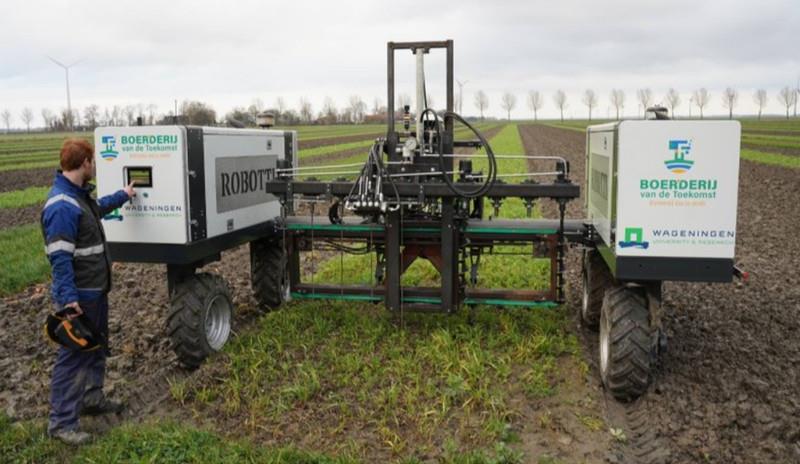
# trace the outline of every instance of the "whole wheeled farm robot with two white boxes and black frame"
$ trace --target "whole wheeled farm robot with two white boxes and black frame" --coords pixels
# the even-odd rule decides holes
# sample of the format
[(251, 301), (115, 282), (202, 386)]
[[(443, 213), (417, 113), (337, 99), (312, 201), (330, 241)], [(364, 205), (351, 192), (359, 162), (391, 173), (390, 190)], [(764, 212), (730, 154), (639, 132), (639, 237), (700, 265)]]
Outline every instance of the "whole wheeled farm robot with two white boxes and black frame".
[[(394, 106), (403, 52), (415, 60), (413, 112)], [(427, 104), (430, 53), (445, 55), (444, 110)], [(453, 112), (452, 41), (390, 42), (387, 59), (386, 135), (358, 163), (303, 166), (294, 131), (96, 130), (99, 194), (132, 180), (140, 192), (105, 218), (112, 259), (167, 265), (167, 330), (180, 361), (198, 366), (229, 338), (228, 287), (200, 270), (245, 243), (264, 310), (315, 299), (382, 302), (396, 313), (560, 305), (572, 247), (583, 253), (581, 317), (599, 326), (603, 382), (621, 400), (641, 395), (663, 347), (662, 282), (727, 282), (736, 273), (738, 123), (589, 127), (586, 217), (567, 219), (580, 188), (566, 160), (494, 153)], [(526, 168), (504, 172), (505, 160)], [(542, 202), (553, 202), (557, 217), (503, 214), (522, 205), (529, 216)], [(369, 278), (319, 281), (315, 271), (335, 266), (339, 253), (369, 263)], [(507, 255), (543, 263), (543, 285), (482, 288), (482, 264)], [(435, 269), (433, 285), (404, 279), (418, 260)]]

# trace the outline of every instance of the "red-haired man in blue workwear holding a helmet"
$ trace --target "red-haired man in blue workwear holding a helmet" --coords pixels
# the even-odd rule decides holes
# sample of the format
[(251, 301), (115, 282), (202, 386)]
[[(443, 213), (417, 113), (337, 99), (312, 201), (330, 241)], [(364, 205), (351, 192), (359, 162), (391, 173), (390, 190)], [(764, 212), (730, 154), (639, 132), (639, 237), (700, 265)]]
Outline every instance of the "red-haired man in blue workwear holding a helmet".
[[(108, 292), (111, 261), (100, 219), (136, 195), (131, 183), (94, 200), (94, 149), (89, 142), (69, 139), (61, 147), (61, 171), (42, 211), (45, 250), (53, 271), (52, 296), (57, 311), (86, 314), (97, 330), (108, 334)], [(72, 316), (72, 317), (74, 317)], [(68, 316), (69, 317), (69, 316)], [(48, 435), (79, 445), (91, 436), (78, 431), (78, 416), (122, 411), (121, 403), (103, 394), (107, 348), (83, 352), (61, 347), (50, 386)]]

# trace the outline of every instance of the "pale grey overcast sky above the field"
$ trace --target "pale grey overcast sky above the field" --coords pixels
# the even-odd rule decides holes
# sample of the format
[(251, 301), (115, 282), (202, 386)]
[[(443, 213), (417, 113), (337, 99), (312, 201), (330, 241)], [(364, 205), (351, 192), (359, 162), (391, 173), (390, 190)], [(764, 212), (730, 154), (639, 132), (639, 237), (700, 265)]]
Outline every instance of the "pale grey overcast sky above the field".
[[(800, 78), (799, 0), (684, 1), (31, 1), (4, 0), (0, 15), (0, 110), (14, 126), (19, 113), (66, 107), (64, 72), (48, 61), (80, 62), (70, 72), (73, 107), (143, 103), (165, 113), (174, 100), (210, 103), (221, 116), (260, 98), (279, 96), (296, 108), (326, 96), (344, 106), (350, 95), (371, 108), (386, 100), (386, 42), (455, 41), (455, 75), (463, 112), (477, 114), (484, 90), (489, 113), (505, 116), (503, 92), (516, 94), (512, 117), (529, 118), (529, 90), (568, 94), (565, 116), (585, 118), (581, 95), (600, 97), (605, 117), (612, 88), (625, 90), (625, 114), (638, 111), (636, 89), (660, 100), (707, 87), (706, 114), (726, 112), (722, 90), (739, 90), (737, 113), (755, 111), (764, 88), (767, 111), (781, 113), (777, 91)], [(399, 93), (413, 94), (410, 53), (398, 58)], [(444, 105), (444, 59), (428, 58), (436, 107)], [(610, 113), (613, 116), (613, 110)], [(697, 108), (692, 109), (697, 114)]]

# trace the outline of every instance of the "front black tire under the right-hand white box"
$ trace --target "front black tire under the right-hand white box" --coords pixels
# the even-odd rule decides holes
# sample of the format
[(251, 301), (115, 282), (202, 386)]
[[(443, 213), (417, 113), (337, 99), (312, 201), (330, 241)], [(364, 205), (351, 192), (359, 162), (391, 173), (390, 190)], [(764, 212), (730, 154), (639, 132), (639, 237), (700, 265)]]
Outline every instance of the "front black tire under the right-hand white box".
[(632, 401), (650, 385), (653, 336), (643, 288), (606, 290), (600, 316), (600, 377), (620, 401)]

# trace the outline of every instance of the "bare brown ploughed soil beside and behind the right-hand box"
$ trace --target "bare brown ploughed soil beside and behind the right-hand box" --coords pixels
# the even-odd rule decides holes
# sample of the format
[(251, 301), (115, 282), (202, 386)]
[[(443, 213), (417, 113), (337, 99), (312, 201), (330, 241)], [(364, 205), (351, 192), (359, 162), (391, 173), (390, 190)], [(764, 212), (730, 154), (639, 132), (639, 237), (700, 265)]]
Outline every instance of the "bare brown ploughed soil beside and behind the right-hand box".
[[(529, 153), (566, 155), (583, 182), (581, 133), (538, 125), (521, 133)], [(742, 160), (736, 255), (750, 280), (665, 285), (669, 347), (653, 386), (632, 405), (608, 401), (609, 420), (630, 429), (621, 462), (800, 462), (798, 200), (797, 170)], [(582, 217), (582, 203), (572, 203), (569, 216)], [(576, 314), (579, 265), (572, 252)], [(596, 335), (576, 330), (596, 371)]]

